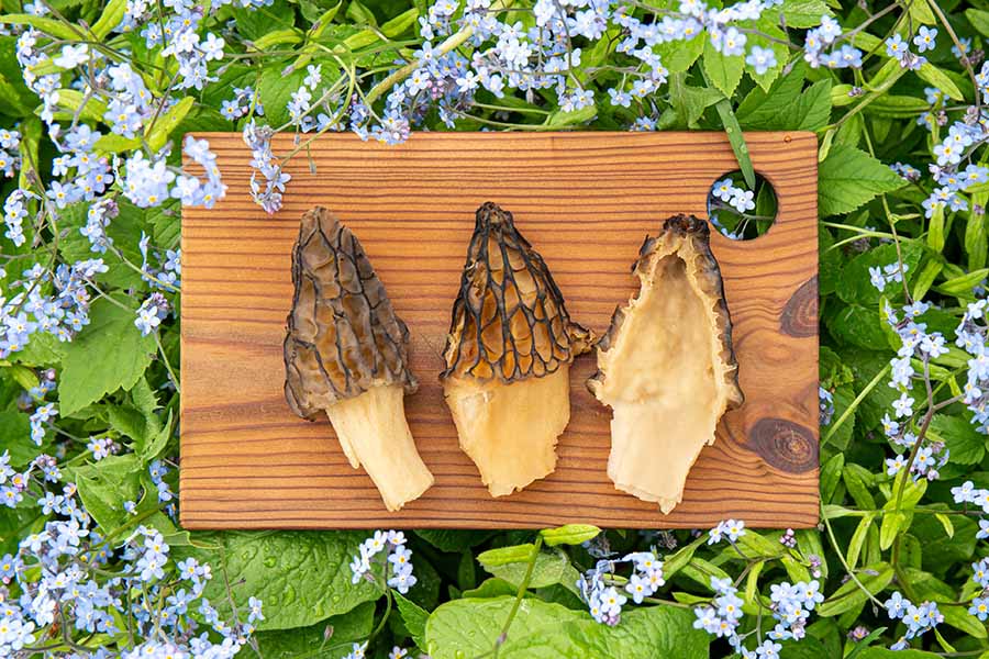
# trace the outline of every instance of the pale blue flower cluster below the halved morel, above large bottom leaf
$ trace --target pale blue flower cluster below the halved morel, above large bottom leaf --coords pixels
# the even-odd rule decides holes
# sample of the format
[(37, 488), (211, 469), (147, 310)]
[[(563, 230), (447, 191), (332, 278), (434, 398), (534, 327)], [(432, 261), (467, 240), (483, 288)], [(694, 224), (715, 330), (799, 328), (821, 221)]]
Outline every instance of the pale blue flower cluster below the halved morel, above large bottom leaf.
[[(622, 563), (632, 566), (632, 573), (627, 579), (615, 574), (615, 568)], [(593, 569), (580, 576), (577, 589), (591, 617), (613, 626), (621, 621), (622, 606), (629, 597), (634, 603), (642, 604), (665, 583), (663, 561), (653, 551), (633, 551), (620, 559), (599, 560)]]

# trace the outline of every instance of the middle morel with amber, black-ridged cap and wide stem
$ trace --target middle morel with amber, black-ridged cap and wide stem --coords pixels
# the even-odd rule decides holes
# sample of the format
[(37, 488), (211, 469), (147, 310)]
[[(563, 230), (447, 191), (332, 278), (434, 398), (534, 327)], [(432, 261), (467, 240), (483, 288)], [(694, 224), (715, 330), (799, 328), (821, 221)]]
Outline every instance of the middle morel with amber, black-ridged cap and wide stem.
[(570, 364), (589, 344), (512, 214), (480, 206), (440, 378), (460, 448), (492, 496), (556, 468), (570, 421)]

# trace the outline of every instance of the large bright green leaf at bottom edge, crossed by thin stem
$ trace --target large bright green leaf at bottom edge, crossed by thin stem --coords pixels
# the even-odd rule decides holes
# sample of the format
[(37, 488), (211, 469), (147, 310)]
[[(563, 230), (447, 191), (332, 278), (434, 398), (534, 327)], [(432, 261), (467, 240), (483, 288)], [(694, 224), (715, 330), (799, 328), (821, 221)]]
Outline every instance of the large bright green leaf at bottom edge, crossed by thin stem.
[[(433, 659), (462, 659), (489, 652), (514, 597), (455, 600), (426, 622)], [(626, 610), (615, 627), (596, 623), (587, 612), (535, 599), (522, 601), (500, 659), (707, 659), (709, 637), (693, 628), (693, 614), (671, 606)]]

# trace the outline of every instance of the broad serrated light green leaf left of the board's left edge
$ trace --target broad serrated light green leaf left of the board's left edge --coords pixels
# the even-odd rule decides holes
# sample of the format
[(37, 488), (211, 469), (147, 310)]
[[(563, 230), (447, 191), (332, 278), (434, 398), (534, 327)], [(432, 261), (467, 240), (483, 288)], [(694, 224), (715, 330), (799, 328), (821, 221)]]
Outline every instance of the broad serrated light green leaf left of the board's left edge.
[(130, 389), (152, 361), (155, 342), (141, 336), (134, 312), (97, 300), (90, 323), (66, 345), (58, 386), (59, 413), (69, 416), (120, 388)]

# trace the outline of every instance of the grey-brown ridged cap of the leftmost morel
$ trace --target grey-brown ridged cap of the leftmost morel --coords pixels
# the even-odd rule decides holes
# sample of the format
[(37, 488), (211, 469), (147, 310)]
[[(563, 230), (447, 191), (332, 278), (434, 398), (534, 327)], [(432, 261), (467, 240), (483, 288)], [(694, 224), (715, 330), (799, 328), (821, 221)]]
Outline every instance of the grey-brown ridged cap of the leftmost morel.
[(322, 206), (302, 215), (292, 282), (284, 353), (285, 396), (296, 414), (313, 418), (373, 386), (416, 390), (409, 328), (360, 242)]

